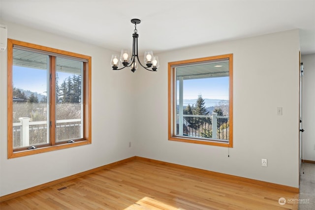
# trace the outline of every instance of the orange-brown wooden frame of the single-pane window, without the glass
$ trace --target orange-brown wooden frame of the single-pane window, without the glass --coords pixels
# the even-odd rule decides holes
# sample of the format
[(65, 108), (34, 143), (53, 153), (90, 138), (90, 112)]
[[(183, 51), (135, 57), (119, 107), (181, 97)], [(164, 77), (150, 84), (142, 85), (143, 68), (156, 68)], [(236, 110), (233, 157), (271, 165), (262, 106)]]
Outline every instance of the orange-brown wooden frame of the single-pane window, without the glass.
[[(215, 139), (203, 140), (189, 137), (182, 137), (174, 135), (174, 90), (176, 90), (176, 83), (174, 84), (175, 68), (173, 66), (182, 64), (191, 64), (212, 60), (229, 60), (229, 141), (228, 143), (216, 141)], [(233, 54), (226, 54), (221, 56), (213, 56), (191, 60), (180, 60), (168, 63), (168, 140), (186, 142), (193, 144), (212, 145), (219, 147), (233, 148)]]

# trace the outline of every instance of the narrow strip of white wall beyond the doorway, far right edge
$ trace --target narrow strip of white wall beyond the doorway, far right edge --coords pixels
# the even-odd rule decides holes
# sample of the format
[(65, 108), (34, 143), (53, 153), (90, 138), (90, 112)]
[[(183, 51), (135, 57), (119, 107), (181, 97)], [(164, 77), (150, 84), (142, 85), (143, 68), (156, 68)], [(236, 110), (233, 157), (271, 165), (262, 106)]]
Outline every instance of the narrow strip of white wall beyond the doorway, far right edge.
[(302, 87), (302, 159), (315, 161), (315, 54), (302, 56), (304, 86)]

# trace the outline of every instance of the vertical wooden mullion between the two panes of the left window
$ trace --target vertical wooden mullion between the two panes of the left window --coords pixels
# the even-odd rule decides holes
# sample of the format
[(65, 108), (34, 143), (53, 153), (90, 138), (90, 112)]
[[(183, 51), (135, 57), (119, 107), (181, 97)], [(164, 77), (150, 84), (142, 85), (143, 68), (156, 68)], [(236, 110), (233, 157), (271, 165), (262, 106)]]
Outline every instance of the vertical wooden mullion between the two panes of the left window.
[(50, 65), (49, 65), (49, 74), (50, 74), (50, 101), (49, 101), (49, 137), (50, 137), (50, 144), (52, 146), (56, 145), (56, 57), (50, 56)]

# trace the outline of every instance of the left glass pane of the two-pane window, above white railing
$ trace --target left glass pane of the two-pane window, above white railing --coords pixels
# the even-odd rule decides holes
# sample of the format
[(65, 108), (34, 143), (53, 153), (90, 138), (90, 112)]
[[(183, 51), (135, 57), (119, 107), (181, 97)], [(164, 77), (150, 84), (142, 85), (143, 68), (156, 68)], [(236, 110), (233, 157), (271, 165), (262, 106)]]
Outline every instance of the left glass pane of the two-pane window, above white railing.
[(48, 56), (13, 49), (13, 148), (49, 143)]

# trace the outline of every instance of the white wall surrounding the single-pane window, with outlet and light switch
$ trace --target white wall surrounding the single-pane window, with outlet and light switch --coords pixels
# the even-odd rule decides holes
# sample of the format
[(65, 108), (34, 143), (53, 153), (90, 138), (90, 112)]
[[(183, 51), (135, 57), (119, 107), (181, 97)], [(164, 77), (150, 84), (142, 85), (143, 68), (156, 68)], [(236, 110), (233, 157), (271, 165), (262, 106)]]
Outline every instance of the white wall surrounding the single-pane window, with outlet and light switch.
[[(167, 63), (233, 53), (234, 147), (167, 138)], [(299, 31), (208, 44), (158, 55), (158, 72), (137, 70), (136, 154), (292, 187), (299, 183)], [(276, 108), (283, 107), (283, 115)], [(268, 167), (261, 167), (261, 158)]]

